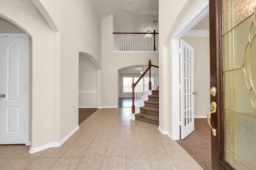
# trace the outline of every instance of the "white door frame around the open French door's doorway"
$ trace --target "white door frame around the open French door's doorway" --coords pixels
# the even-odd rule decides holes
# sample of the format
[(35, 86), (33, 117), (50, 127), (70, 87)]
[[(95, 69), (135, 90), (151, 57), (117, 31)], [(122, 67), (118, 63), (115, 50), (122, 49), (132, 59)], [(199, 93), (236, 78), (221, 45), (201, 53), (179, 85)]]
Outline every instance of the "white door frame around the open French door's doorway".
[(172, 114), (172, 140), (180, 140), (180, 39), (209, 14), (209, 1), (172, 36), (171, 38), (171, 114)]

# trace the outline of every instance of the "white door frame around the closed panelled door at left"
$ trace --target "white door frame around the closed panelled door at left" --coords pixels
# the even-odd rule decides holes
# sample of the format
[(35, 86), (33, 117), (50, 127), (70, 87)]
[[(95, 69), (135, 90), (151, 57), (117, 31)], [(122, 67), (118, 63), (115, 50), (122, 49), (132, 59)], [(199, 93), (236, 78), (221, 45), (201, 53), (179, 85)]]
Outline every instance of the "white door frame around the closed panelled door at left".
[(0, 37), (26, 37), (27, 39), (27, 51), (26, 51), (26, 145), (30, 146), (29, 141), (29, 37), (25, 33), (0, 33)]

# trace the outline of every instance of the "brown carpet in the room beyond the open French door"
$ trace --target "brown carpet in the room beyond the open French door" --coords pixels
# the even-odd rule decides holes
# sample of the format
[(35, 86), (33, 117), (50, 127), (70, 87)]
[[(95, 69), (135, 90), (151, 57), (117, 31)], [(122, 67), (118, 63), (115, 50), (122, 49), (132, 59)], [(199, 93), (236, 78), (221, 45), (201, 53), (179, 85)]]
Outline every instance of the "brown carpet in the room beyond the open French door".
[(195, 119), (195, 130), (177, 142), (204, 170), (212, 169), (211, 130), (207, 119)]

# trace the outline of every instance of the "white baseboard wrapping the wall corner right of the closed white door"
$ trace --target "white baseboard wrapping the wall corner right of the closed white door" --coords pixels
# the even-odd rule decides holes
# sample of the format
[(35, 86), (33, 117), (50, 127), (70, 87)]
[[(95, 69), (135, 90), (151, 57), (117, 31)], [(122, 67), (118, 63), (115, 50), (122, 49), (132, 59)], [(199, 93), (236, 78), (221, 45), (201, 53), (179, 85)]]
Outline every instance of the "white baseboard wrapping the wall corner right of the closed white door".
[(35, 153), (35, 152), (39, 152), (41, 150), (44, 149), (48, 149), (51, 147), (60, 147), (66, 140), (68, 140), (68, 138), (70, 138), (77, 130), (79, 129), (79, 126), (75, 127), (70, 133), (68, 133), (68, 135), (66, 135), (61, 141), (59, 142), (52, 142), (52, 143), (48, 143), (46, 145), (42, 145), (40, 147), (35, 147), (35, 148), (31, 148), (29, 149), (29, 153)]

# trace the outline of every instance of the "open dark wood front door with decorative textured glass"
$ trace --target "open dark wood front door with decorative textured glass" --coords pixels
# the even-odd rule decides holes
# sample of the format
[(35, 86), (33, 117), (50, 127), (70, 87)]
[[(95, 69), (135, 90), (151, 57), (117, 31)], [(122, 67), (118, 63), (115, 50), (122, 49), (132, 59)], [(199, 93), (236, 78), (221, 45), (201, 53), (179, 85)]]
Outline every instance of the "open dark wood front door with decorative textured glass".
[(210, 0), (212, 169), (256, 170), (256, 0)]

